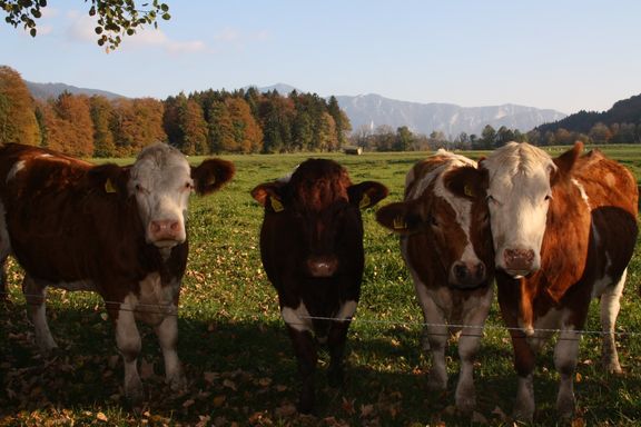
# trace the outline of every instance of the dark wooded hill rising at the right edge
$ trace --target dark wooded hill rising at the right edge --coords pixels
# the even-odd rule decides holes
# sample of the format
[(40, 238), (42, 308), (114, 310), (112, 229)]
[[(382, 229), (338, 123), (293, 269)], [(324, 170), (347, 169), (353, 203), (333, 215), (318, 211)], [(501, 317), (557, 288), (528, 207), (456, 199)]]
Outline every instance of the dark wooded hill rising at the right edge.
[(641, 125), (641, 95), (617, 101), (608, 111), (579, 111), (562, 120), (541, 125), (536, 130), (541, 133), (565, 129), (571, 132), (588, 133), (596, 123), (634, 123)]

